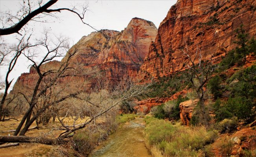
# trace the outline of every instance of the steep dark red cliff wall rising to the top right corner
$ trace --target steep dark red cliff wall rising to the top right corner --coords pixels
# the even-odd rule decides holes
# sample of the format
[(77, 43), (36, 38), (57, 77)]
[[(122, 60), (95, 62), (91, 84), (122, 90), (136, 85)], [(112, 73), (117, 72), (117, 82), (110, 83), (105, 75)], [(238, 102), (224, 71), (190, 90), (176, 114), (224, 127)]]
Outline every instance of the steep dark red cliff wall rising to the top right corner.
[(182, 52), (186, 45), (192, 58), (197, 46), (203, 60), (225, 55), (236, 46), (235, 30), (241, 24), (249, 38), (256, 35), (255, 8), (255, 0), (178, 0), (161, 22), (138, 76), (157, 78), (182, 71), (188, 62)]

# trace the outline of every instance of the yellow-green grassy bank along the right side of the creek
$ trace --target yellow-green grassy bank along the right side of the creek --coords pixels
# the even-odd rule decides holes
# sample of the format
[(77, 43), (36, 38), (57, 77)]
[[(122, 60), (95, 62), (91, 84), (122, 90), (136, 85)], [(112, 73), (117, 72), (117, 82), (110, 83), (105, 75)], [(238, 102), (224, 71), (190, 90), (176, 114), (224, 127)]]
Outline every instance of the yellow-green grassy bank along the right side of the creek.
[(207, 152), (207, 145), (218, 137), (217, 131), (203, 126), (186, 127), (169, 121), (145, 118), (145, 141), (154, 157), (197, 157)]

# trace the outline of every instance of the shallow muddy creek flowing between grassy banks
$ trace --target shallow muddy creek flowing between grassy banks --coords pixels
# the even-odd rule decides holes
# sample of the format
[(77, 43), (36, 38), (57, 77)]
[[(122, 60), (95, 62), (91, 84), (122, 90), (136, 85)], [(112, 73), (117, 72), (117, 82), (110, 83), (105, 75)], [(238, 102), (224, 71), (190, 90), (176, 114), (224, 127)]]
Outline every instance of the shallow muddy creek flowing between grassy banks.
[(143, 118), (131, 120), (110, 135), (90, 157), (151, 157), (143, 137)]

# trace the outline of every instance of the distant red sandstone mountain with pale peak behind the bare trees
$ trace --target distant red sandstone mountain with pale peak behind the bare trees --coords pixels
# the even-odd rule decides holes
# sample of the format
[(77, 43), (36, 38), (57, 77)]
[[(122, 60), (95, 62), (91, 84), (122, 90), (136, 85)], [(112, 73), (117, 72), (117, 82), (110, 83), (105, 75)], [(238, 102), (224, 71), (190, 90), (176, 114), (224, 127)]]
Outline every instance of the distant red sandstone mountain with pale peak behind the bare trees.
[[(78, 51), (70, 64), (80, 64), (84, 69), (98, 67), (111, 83), (126, 76), (134, 79), (156, 35), (157, 27), (153, 22), (133, 18), (121, 32), (101, 30), (82, 37), (69, 50)], [(61, 62), (65, 60), (63, 58)], [(42, 68), (58, 67), (61, 62), (48, 62)], [(13, 91), (19, 91), (24, 86), (33, 88), (38, 78), (34, 68), (31, 68), (29, 73), (23, 73), (17, 79)]]

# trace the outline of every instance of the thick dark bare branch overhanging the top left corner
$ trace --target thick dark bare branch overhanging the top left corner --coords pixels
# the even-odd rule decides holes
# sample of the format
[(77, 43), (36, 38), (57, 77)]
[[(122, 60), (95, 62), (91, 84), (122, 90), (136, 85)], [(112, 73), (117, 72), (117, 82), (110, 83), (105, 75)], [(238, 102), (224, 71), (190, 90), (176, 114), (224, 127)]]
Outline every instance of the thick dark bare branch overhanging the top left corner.
[(20, 34), (19, 31), (24, 28), (29, 21), (45, 22), (44, 20), (41, 20), (43, 17), (56, 17), (54, 13), (60, 13), (61, 11), (69, 11), (74, 13), (81, 19), (83, 24), (92, 27), (84, 22), (85, 13), (88, 8), (87, 5), (82, 6), (81, 11), (80, 9), (77, 9), (78, 6), (74, 6), (73, 8), (53, 8), (53, 5), (57, 1), (58, 0), (49, 0), (48, 2), (44, 3), (43, 0), (23, 0), (22, 7), (16, 13), (16, 15), (7, 12), (5, 13), (5, 16), (0, 18), (0, 23), (2, 24), (2, 28), (0, 28), (0, 36), (10, 35), (13, 33)]

